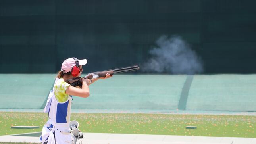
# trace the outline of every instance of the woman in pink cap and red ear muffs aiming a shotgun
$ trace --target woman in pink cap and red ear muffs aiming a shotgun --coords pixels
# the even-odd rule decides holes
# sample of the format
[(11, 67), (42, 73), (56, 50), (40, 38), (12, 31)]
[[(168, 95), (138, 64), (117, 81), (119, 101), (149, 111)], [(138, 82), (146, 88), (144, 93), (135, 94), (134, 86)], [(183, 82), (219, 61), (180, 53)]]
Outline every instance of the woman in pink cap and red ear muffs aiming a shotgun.
[(44, 112), (48, 113), (49, 120), (42, 128), (42, 136), (40, 136), (42, 144), (71, 144), (73, 140), (69, 131), (69, 122), (72, 96), (87, 98), (90, 95), (88, 85), (98, 79), (111, 77), (107, 73), (106, 77), (102, 78), (90, 80), (82, 78), (82, 88), (73, 87), (65, 82), (67, 79), (80, 77), (83, 72), (82, 66), (86, 63), (86, 59), (78, 60), (77, 58), (68, 58), (62, 63), (44, 108)]

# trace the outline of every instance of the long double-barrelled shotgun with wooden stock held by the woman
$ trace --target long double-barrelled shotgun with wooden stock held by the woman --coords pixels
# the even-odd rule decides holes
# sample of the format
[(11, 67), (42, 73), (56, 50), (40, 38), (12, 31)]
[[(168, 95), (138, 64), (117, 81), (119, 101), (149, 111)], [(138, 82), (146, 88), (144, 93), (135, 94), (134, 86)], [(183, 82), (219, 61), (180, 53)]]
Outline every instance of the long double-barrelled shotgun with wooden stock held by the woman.
[[(98, 77), (106, 77), (107, 73), (109, 73), (112, 76), (115, 73), (124, 73), (124, 72), (128, 72), (128, 71), (136, 71), (139, 69), (140, 68), (138, 65), (133, 65), (133, 66), (129, 66), (129, 67), (121, 67), (121, 68), (117, 68), (117, 69), (108, 69), (105, 71), (97, 71), (97, 72), (89, 73), (88, 75), (86, 75), (83, 78), (94, 79), (94, 78), (98, 78)], [(68, 79), (66, 82), (74, 87), (76, 87), (76, 86), (79, 86), (80, 88), (82, 87), (81, 77), (75, 77), (73, 79)]]

